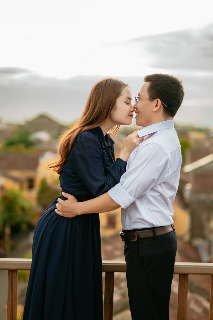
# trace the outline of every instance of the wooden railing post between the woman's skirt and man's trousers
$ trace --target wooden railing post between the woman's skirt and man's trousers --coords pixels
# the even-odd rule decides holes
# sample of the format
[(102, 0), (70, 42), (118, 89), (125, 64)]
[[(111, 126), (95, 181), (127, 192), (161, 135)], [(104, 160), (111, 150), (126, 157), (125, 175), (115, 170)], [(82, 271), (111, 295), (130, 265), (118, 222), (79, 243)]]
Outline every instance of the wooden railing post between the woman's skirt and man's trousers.
[(105, 273), (103, 320), (112, 320), (113, 315), (114, 272)]

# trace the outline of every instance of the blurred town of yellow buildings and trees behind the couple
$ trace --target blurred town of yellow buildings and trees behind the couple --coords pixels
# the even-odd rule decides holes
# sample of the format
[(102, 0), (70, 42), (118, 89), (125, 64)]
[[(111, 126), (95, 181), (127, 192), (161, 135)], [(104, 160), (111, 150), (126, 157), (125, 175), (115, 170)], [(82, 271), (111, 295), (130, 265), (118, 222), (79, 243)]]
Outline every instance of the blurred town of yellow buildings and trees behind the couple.
[[(182, 168), (173, 202), (178, 236), (176, 261), (213, 262), (213, 131), (175, 125), (182, 148)], [(67, 126), (46, 115), (25, 124), (0, 121), (0, 257), (30, 257), (35, 224), (60, 194), (58, 175), (47, 170), (57, 158), (57, 138)], [(132, 128), (112, 138), (115, 157)], [(120, 239), (120, 209), (100, 214), (102, 259), (125, 260)], [(19, 271), (18, 313), (23, 309), (27, 271)], [(189, 276), (187, 319), (208, 319), (210, 276)], [(7, 272), (0, 271), (0, 319), (5, 317)], [(104, 275), (103, 275), (104, 284)], [(176, 319), (178, 276), (174, 276), (170, 318)], [(114, 315), (128, 309), (126, 275), (115, 275)], [(127, 318), (126, 318), (127, 319)]]

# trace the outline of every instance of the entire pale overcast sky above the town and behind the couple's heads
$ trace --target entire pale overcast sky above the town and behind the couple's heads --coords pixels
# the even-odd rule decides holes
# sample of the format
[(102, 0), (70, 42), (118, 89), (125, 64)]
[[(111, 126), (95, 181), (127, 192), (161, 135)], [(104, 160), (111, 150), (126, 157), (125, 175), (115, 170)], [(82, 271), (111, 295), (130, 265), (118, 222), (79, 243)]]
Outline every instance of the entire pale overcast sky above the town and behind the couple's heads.
[(23, 122), (42, 112), (70, 123), (99, 79), (121, 78), (134, 96), (145, 75), (169, 73), (185, 88), (175, 120), (212, 127), (211, 4), (2, 1), (0, 119)]

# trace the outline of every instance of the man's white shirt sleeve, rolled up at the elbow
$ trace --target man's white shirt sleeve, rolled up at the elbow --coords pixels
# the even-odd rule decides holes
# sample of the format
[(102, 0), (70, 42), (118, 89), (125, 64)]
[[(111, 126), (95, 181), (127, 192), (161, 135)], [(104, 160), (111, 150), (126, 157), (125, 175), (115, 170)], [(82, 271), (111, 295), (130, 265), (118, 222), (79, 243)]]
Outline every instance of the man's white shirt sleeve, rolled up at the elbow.
[(108, 191), (109, 196), (126, 208), (153, 186), (166, 180), (169, 167), (169, 156), (161, 146), (156, 143), (141, 145), (120, 182)]

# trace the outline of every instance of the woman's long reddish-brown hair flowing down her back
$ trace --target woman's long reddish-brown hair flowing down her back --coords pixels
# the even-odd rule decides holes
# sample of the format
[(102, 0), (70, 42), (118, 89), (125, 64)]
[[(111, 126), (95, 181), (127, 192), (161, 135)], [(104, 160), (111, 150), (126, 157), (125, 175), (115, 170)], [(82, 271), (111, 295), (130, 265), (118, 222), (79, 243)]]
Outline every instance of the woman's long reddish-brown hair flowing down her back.
[[(54, 170), (58, 174), (61, 172), (77, 135), (102, 124), (114, 107), (122, 90), (127, 86), (128, 84), (113, 78), (100, 80), (93, 86), (79, 120), (59, 137), (58, 160), (48, 165), (50, 170)], [(117, 125), (109, 133), (117, 132), (119, 127), (120, 125)]]

